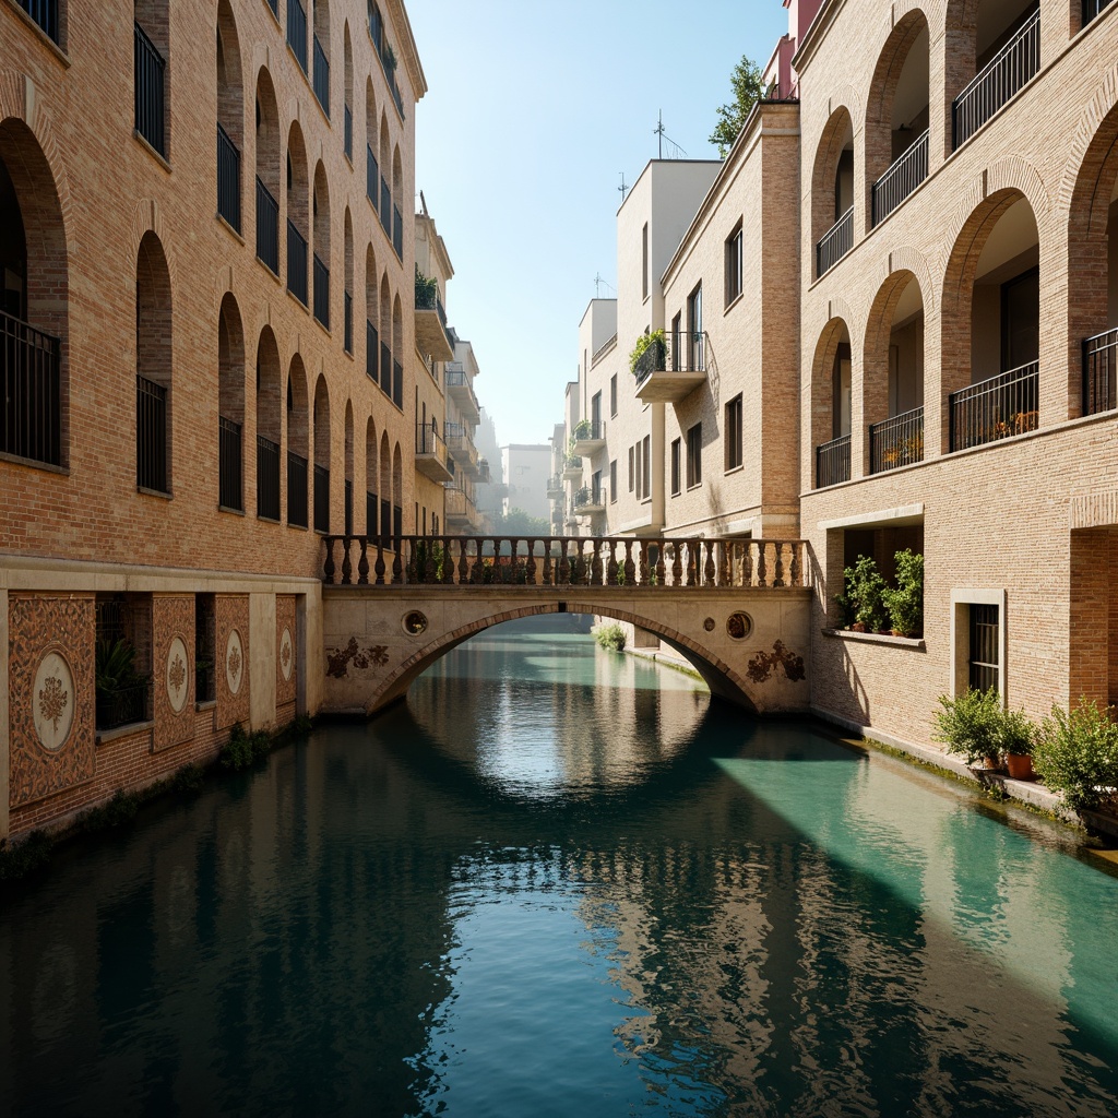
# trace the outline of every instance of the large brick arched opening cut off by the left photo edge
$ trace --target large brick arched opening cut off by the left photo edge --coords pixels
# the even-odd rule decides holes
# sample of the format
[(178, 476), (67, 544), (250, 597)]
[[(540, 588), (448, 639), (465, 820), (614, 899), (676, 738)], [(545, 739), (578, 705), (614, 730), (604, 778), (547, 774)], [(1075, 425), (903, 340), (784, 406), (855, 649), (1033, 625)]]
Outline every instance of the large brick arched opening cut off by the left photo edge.
[(66, 465), (69, 260), (54, 174), (27, 125), (0, 123), (0, 453)]

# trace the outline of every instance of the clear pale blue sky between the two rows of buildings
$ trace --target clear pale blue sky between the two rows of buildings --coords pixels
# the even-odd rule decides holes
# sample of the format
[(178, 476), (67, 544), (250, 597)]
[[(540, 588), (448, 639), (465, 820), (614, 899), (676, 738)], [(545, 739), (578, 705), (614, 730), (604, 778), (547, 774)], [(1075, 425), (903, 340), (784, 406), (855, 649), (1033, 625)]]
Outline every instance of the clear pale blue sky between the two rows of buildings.
[[(620, 174), (656, 155), (656, 115), (689, 159), (742, 55), (764, 65), (780, 0), (408, 0), (427, 95), (416, 189), (455, 276), (447, 314), (474, 344), (504, 443), (547, 439), (577, 375), (578, 323), (614, 294)], [(666, 150), (665, 150), (666, 154)], [(418, 208), (418, 193), (416, 205)]]

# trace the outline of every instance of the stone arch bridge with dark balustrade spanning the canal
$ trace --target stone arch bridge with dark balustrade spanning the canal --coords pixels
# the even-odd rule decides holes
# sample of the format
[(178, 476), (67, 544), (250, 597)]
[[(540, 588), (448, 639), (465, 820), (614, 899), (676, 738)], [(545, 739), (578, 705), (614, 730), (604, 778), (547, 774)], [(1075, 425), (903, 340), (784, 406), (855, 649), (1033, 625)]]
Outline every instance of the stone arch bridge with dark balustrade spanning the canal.
[(802, 540), (324, 538), (323, 712), (369, 716), (463, 641), (514, 618), (628, 622), (754, 713), (804, 711)]

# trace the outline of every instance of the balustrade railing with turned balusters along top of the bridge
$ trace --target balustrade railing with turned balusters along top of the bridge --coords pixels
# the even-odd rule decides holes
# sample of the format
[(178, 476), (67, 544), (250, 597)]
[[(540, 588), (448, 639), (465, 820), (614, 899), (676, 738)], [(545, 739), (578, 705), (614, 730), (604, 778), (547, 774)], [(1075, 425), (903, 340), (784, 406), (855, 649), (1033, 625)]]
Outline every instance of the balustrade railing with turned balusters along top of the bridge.
[(804, 585), (804, 541), (601, 536), (323, 537), (328, 586)]

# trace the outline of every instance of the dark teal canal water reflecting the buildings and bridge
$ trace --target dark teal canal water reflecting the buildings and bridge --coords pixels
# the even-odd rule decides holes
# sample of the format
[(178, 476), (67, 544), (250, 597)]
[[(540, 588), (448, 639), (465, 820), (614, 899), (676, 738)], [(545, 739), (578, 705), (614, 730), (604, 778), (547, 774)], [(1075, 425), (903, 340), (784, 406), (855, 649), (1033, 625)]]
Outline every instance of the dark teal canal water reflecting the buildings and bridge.
[(1105, 863), (698, 686), (493, 629), (66, 850), (0, 893), (0, 1112), (1118, 1114)]

